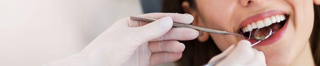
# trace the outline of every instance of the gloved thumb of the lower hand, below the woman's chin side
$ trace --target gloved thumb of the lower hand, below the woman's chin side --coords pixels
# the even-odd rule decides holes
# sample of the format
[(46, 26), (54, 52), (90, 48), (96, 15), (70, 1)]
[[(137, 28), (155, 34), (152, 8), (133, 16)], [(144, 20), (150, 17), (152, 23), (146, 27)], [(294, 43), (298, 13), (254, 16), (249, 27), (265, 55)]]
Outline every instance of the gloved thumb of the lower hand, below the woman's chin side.
[(224, 58), (225, 56), (227, 56), (232, 51), (232, 49), (234, 49), (234, 47), (235, 47), (235, 45), (232, 44), (230, 47), (228, 47), (228, 49), (224, 50), (219, 55), (212, 57), (208, 63), (219, 62), (219, 59)]

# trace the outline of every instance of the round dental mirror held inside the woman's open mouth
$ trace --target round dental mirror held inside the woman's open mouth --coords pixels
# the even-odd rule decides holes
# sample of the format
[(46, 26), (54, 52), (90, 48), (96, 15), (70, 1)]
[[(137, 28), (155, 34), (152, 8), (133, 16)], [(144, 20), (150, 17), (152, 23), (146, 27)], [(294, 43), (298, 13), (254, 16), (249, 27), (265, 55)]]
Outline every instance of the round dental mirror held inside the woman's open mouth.
[(253, 38), (258, 40), (258, 42), (251, 44), (251, 46), (254, 46), (254, 45), (260, 43), (262, 40), (267, 39), (269, 36), (271, 36), (271, 34), (272, 34), (272, 29), (268, 26), (257, 29), (254, 32)]

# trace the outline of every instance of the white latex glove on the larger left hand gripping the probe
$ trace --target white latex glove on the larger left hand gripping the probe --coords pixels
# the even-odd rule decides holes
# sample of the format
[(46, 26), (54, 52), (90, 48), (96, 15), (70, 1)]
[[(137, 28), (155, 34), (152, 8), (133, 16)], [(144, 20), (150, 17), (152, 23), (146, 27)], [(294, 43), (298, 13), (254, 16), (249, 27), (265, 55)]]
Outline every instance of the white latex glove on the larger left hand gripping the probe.
[(81, 52), (46, 65), (123, 66), (129, 59), (126, 65), (131, 66), (173, 62), (181, 58), (185, 48), (176, 40), (192, 40), (199, 35), (194, 29), (172, 28), (172, 21), (191, 23), (189, 14), (149, 13), (140, 17), (159, 20), (148, 24), (129, 17), (120, 19)]

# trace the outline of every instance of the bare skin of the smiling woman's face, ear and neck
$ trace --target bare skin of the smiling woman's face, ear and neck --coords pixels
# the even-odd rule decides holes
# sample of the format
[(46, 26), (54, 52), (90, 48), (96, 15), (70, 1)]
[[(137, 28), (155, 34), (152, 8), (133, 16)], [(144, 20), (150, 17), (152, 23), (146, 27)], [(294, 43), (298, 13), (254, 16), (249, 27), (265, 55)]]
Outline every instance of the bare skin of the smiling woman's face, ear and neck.
[[(271, 44), (258, 44), (253, 48), (265, 54), (266, 63), (270, 66), (304, 63), (304, 65), (314, 65), (308, 40), (314, 20), (313, 3), (319, 4), (319, 0), (250, 0), (250, 3), (248, 3), (249, 0), (195, 1), (196, 8), (191, 8), (188, 2), (182, 3), (184, 11), (195, 18), (192, 24), (226, 30), (231, 33), (238, 33), (243, 27), (240, 25), (248, 17), (268, 11), (283, 11), (282, 14), (289, 15), (289, 17), (286, 18), (288, 19), (287, 25), (282, 35), (271, 36), (278, 39), (270, 38), (272, 41), (264, 41)], [(243, 40), (241, 36), (202, 33), (202, 36), (198, 36), (199, 41), (207, 41), (208, 37), (212, 37), (221, 51)]]

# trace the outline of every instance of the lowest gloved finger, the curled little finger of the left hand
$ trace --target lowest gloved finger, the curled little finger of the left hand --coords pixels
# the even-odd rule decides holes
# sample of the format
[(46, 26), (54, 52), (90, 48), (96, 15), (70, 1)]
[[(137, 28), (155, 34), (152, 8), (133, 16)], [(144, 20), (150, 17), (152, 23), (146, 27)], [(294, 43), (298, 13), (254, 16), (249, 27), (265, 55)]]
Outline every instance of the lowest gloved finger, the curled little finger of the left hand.
[(150, 65), (157, 65), (161, 63), (174, 62), (181, 58), (182, 53), (173, 53), (173, 52), (160, 52), (153, 53), (150, 56)]

